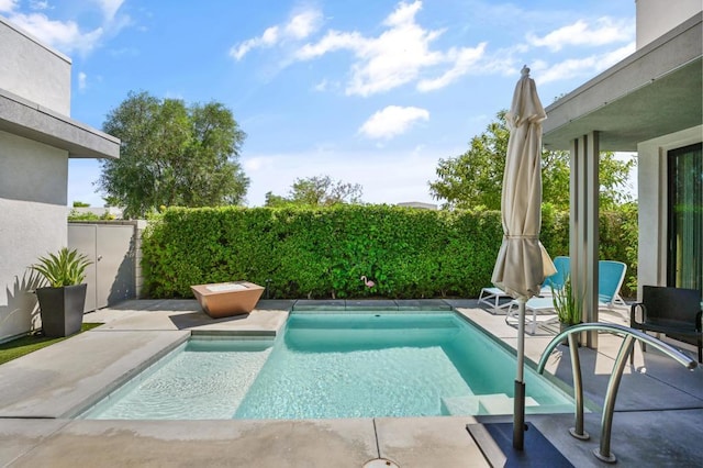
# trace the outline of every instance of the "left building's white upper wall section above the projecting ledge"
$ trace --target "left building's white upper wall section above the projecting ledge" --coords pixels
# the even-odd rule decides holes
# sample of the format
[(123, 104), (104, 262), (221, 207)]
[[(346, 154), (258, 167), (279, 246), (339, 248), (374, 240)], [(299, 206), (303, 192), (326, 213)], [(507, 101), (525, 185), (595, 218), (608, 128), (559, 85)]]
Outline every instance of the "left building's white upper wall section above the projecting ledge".
[(70, 59), (0, 16), (0, 88), (70, 115)]

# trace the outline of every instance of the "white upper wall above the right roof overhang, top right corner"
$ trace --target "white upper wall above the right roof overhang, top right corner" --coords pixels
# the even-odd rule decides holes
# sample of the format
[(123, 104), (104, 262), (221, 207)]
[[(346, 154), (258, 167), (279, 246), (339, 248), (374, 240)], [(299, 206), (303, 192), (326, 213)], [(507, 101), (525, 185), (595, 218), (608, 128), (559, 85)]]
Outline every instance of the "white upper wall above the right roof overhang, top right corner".
[(637, 49), (703, 11), (701, 0), (636, 0), (635, 3)]

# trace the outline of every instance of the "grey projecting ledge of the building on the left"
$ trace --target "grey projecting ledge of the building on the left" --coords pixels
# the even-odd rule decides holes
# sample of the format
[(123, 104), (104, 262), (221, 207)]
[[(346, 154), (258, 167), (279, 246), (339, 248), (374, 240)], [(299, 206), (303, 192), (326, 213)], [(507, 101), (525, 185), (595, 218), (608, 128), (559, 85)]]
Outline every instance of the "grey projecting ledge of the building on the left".
[(120, 140), (0, 89), (0, 131), (68, 152), (70, 158), (119, 158)]

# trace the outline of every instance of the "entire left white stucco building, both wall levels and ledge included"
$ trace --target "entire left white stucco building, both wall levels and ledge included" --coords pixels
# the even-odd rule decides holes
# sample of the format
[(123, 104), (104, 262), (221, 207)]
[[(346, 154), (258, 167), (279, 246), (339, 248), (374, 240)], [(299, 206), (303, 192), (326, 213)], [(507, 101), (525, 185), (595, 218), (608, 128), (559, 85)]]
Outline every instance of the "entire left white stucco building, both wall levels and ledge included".
[(70, 59), (0, 18), (0, 342), (40, 325), (29, 266), (67, 244), (69, 157), (119, 141), (72, 121)]

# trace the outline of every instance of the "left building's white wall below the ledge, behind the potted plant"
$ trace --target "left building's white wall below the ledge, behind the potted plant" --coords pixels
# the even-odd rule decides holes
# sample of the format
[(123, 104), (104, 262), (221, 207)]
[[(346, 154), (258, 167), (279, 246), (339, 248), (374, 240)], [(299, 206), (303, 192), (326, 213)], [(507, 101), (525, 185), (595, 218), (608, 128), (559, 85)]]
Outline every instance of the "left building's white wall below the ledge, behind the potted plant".
[(68, 153), (0, 132), (0, 341), (32, 328), (27, 267), (66, 245)]

